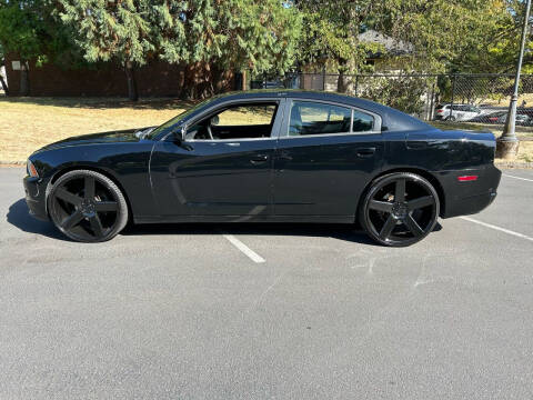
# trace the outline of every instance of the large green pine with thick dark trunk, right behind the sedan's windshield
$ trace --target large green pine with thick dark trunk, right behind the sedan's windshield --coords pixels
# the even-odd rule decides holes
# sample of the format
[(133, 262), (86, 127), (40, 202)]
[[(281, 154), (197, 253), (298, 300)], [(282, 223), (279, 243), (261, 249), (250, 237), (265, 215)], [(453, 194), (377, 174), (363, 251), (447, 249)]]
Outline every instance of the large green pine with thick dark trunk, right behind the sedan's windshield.
[(217, 91), (224, 71), (283, 73), (295, 62), (301, 17), (279, 0), (168, 1), (160, 16), (160, 58), (188, 64), (187, 97)]

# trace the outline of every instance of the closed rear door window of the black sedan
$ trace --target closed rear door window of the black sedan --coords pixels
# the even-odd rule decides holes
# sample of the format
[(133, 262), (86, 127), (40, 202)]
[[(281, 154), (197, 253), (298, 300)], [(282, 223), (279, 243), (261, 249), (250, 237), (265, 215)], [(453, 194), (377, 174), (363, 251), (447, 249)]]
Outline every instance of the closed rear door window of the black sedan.
[(289, 136), (350, 132), (352, 110), (311, 101), (293, 101)]

